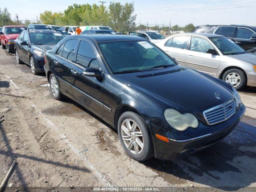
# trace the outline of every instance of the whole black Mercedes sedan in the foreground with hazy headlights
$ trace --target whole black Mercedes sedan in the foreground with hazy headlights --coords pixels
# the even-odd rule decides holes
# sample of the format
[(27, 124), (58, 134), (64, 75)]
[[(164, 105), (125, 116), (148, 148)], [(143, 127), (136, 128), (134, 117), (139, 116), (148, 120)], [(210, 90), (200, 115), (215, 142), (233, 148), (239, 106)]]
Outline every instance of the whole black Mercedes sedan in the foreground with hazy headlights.
[(52, 96), (118, 130), (132, 158), (172, 160), (225, 138), (245, 112), (230, 84), (186, 68), (136, 36), (79, 35), (45, 54)]

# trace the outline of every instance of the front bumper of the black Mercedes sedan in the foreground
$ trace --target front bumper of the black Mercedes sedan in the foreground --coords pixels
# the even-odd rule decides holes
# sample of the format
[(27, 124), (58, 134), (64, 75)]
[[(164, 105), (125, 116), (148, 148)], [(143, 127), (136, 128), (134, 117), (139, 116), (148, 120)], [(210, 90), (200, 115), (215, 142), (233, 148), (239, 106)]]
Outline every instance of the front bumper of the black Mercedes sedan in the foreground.
[[(245, 110), (246, 108), (242, 104), (237, 112), (225, 122), (213, 126), (205, 126), (206, 129), (209, 127), (216, 128), (218, 130), (216, 132), (208, 132), (207, 134), (183, 140), (169, 138), (169, 143), (159, 140), (155, 134), (167, 136), (170, 130), (160, 131), (159, 128), (152, 126), (155, 157), (164, 160), (174, 160), (175, 158), (186, 156), (187, 154), (202, 150), (219, 142), (234, 130), (244, 115)], [(164, 134), (164, 132), (166, 133)]]

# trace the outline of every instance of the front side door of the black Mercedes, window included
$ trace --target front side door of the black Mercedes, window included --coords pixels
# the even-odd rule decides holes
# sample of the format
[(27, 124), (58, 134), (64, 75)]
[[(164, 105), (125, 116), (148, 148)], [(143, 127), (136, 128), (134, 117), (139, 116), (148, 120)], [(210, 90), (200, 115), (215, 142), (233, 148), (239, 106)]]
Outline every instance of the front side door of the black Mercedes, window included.
[(71, 66), (74, 100), (102, 117), (104, 81), (83, 74), (86, 67), (102, 68), (92, 44), (87, 40), (81, 40), (75, 58), (76, 61)]

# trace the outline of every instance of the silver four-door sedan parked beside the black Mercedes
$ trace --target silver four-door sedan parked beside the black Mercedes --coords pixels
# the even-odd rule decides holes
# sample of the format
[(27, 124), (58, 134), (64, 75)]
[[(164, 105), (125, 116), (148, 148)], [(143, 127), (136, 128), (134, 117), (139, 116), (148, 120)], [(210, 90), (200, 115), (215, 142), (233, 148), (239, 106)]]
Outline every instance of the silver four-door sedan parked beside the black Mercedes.
[(256, 86), (256, 55), (216, 34), (186, 33), (156, 44), (180, 64), (231, 84), (236, 90)]

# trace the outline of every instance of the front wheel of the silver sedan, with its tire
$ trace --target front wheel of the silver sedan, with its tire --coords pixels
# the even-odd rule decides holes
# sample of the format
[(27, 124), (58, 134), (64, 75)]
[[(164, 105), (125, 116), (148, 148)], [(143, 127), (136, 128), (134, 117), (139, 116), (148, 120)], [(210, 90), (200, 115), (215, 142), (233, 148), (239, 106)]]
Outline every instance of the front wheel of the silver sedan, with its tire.
[(236, 90), (240, 90), (246, 85), (245, 74), (239, 69), (227, 70), (223, 74), (222, 80), (232, 85)]

